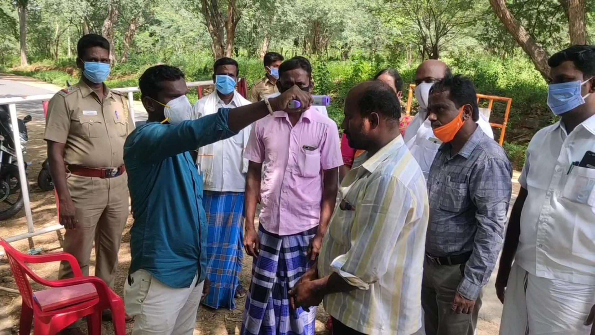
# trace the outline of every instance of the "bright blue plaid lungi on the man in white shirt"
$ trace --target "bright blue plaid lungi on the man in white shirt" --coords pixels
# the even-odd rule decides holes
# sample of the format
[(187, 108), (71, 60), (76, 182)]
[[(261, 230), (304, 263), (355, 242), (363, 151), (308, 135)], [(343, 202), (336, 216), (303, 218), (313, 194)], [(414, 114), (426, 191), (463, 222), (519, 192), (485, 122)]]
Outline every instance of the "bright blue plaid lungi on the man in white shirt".
[(202, 204), (209, 224), (206, 275), (211, 281), (211, 291), (202, 303), (234, 309), (244, 258), (244, 193), (205, 190)]

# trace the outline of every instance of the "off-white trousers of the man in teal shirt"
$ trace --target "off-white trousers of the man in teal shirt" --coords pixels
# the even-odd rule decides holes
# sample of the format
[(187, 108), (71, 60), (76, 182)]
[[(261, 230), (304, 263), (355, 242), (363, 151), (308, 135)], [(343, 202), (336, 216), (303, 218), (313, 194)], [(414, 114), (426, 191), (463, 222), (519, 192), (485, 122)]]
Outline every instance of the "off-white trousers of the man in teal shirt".
[(145, 270), (134, 271), (124, 284), (126, 312), (134, 317), (133, 335), (192, 335), (201, 302), (202, 283), (173, 289)]

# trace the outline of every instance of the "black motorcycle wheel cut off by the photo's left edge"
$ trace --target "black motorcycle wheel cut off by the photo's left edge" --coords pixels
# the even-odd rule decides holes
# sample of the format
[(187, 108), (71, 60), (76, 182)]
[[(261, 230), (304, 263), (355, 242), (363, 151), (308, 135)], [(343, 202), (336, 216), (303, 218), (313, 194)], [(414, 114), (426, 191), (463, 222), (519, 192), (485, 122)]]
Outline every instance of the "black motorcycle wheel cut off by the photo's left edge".
[(3, 164), (0, 167), (0, 220), (12, 218), (23, 209), (23, 190), (21, 190), (18, 167)]

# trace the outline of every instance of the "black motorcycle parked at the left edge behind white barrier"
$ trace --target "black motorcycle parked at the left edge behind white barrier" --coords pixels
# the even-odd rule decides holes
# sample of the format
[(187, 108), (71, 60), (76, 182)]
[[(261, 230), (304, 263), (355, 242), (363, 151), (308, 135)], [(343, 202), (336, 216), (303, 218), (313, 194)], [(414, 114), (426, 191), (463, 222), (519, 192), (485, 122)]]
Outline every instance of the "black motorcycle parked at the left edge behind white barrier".
[[(30, 115), (17, 120), (17, 131), (23, 154), (27, 153), (29, 139), (25, 123), (30, 120)], [(23, 208), (23, 190), (21, 190), (21, 177), (18, 173), (16, 146), (12, 139), (13, 131), (8, 106), (2, 105), (0, 106), (0, 220), (12, 218)]]

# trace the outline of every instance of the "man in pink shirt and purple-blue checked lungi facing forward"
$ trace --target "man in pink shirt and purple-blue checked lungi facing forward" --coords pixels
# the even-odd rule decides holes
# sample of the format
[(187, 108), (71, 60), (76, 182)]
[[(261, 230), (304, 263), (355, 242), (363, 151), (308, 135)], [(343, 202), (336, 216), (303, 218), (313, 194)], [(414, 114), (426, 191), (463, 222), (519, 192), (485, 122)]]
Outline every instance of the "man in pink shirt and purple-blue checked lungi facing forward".
[[(312, 91), (312, 67), (294, 57), (279, 67), (277, 86)], [(337, 197), (343, 165), (336, 123), (310, 108), (254, 123), (246, 175), (246, 253), (255, 259), (242, 334), (314, 334), (316, 310), (290, 310), (289, 291), (314, 264)], [(260, 198), (258, 232), (254, 227)]]

